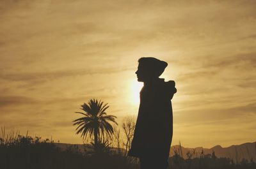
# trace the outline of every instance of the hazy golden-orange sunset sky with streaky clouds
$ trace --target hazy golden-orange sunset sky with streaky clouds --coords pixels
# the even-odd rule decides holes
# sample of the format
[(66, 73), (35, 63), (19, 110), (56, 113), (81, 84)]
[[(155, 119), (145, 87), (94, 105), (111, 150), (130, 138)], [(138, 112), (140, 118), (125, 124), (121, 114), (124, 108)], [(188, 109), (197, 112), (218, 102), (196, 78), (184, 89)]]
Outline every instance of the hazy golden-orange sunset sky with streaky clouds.
[(173, 144), (255, 142), (255, 8), (253, 0), (2, 0), (0, 126), (82, 143), (74, 112), (98, 98), (119, 123), (136, 116), (134, 72), (152, 56), (168, 62), (162, 77), (177, 84)]

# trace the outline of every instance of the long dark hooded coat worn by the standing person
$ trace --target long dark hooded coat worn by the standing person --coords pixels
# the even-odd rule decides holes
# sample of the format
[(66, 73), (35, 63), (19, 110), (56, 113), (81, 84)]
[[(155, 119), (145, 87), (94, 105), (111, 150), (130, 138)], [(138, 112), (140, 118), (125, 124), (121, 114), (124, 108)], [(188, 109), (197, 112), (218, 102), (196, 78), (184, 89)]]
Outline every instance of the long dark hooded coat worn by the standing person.
[(175, 82), (144, 85), (140, 92), (140, 108), (129, 156), (168, 158), (173, 134), (172, 102), (177, 92)]

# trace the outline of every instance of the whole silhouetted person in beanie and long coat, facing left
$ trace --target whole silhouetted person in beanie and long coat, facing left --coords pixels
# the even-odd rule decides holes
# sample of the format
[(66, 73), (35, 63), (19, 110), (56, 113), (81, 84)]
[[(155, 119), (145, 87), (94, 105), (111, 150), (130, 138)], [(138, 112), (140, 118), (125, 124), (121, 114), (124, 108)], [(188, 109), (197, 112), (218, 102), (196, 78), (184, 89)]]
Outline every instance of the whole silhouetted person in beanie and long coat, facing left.
[(173, 80), (164, 82), (159, 76), (168, 65), (154, 57), (141, 57), (138, 81), (144, 82), (140, 91), (140, 108), (129, 156), (140, 158), (141, 169), (165, 169), (173, 134), (172, 102), (177, 92)]

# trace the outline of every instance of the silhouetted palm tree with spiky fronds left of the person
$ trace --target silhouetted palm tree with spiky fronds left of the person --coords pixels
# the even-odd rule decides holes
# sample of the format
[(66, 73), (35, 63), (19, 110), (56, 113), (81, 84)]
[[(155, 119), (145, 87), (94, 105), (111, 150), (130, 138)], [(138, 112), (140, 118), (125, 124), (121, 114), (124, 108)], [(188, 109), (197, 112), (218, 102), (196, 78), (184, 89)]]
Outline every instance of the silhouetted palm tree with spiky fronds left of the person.
[(108, 103), (103, 104), (103, 101), (98, 101), (97, 99), (90, 99), (88, 103), (84, 103), (81, 105), (81, 110), (83, 112), (75, 112), (76, 114), (82, 114), (84, 117), (74, 120), (74, 125), (77, 125), (77, 132), (78, 135), (81, 133), (81, 137), (86, 138), (92, 135), (94, 136), (94, 146), (95, 148), (98, 145), (100, 134), (104, 136), (105, 131), (107, 135), (112, 135), (114, 133), (113, 126), (109, 122), (114, 122), (116, 125), (117, 122), (115, 121), (115, 115), (107, 115), (106, 110), (109, 108)]

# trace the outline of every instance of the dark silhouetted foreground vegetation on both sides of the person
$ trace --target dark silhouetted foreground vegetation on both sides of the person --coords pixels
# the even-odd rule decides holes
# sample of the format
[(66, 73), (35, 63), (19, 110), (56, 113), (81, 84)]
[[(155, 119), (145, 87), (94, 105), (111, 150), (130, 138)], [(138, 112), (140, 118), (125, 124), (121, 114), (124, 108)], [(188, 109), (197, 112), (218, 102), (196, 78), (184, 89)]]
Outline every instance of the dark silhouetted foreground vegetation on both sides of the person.
[[(93, 146), (93, 144), (92, 144)], [(112, 150), (112, 151), (111, 151)], [(203, 154), (200, 158), (181, 158), (179, 153), (169, 159), (170, 168), (177, 169), (255, 169), (256, 163), (244, 159), (236, 164), (228, 158), (217, 158), (212, 154)], [(97, 151), (81, 152), (76, 147), (67, 147), (61, 151), (49, 139), (40, 137), (9, 135), (0, 138), (0, 168), (86, 168), (86, 169), (137, 169), (137, 159), (125, 156), (121, 151), (113, 151), (106, 142), (102, 142)]]

